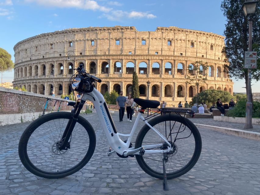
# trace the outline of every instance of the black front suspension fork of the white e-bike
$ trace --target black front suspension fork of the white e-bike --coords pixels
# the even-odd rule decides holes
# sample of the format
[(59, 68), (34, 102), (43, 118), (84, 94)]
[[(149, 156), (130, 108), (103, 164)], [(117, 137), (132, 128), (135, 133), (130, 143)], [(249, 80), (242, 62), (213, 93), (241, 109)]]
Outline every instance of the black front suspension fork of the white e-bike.
[(77, 104), (75, 105), (75, 109), (74, 109), (74, 112), (73, 112), (73, 115), (72, 117), (69, 119), (69, 122), (63, 132), (63, 135), (62, 135), (62, 146), (59, 148), (60, 150), (64, 150), (67, 146), (67, 143), (69, 141), (69, 137), (71, 136), (71, 133), (76, 125), (76, 122), (78, 120), (78, 116), (80, 114), (80, 111), (81, 109), (83, 108), (84, 104), (85, 104), (86, 101), (84, 100), (80, 100), (80, 101), (77, 101)]

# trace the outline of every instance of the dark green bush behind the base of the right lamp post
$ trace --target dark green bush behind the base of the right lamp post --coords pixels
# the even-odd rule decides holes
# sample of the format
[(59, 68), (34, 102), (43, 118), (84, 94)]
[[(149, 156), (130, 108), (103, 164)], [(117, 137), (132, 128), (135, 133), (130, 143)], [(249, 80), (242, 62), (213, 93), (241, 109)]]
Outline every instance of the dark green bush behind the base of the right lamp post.
[[(231, 117), (246, 117), (246, 98), (238, 99), (236, 106), (228, 111), (227, 116)], [(253, 102), (252, 118), (260, 118), (260, 102)]]

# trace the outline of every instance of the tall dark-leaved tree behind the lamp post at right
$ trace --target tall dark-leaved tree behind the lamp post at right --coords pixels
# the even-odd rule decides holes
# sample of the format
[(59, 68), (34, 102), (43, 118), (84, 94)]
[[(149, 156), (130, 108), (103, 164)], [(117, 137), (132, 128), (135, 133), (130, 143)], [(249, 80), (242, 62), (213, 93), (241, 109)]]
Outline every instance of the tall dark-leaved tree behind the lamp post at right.
[[(224, 72), (235, 79), (245, 79), (246, 89), (248, 82), (248, 69), (244, 69), (244, 51), (248, 51), (248, 18), (244, 16), (241, 9), (244, 0), (223, 0), (221, 10), (226, 16), (227, 23), (224, 35), (226, 37), (226, 45), (223, 48), (225, 56)], [(260, 4), (258, 3), (252, 26), (252, 50), (259, 51), (260, 43)], [(257, 60), (258, 68), (252, 69), (252, 79), (258, 81), (260, 79), (260, 64)], [(250, 86), (251, 102), (253, 102), (252, 91)]]

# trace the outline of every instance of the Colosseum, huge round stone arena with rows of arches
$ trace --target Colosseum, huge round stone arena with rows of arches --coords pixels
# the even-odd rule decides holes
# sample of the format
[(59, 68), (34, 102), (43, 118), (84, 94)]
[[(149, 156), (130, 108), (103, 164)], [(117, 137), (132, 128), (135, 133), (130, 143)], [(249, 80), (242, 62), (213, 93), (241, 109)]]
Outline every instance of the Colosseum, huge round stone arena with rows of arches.
[(177, 105), (191, 101), (196, 93), (196, 87), (186, 83), (187, 76), (193, 74), (188, 66), (195, 61), (209, 67), (208, 80), (199, 91), (233, 93), (233, 82), (223, 72), (223, 46), (223, 36), (178, 27), (157, 27), (155, 31), (87, 27), (44, 33), (14, 46), (13, 85), (45, 95), (69, 94), (73, 69), (83, 64), (90, 74), (102, 79), (102, 83), (94, 83), (102, 94), (113, 89), (129, 94), (136, 71), (141, 98)]

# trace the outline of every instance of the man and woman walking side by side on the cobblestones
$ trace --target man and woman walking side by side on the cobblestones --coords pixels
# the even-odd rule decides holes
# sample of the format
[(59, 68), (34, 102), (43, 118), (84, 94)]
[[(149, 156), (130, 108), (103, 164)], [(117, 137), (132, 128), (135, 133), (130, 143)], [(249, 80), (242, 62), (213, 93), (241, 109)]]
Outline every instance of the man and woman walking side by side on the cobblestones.
[(131, 94), (126, 98), (123, 96), (123, 91), (120, 91), (119, 96), (116, 98), (116, 105), (119, 110), (119, 122), (123, 121), (125, 109), (127, 113), (127, 121), (132, 122), (132, 116), (134, 113), (134, 107), (132, 107), (133, 102), (134, 99)]

